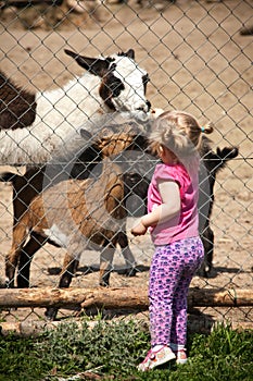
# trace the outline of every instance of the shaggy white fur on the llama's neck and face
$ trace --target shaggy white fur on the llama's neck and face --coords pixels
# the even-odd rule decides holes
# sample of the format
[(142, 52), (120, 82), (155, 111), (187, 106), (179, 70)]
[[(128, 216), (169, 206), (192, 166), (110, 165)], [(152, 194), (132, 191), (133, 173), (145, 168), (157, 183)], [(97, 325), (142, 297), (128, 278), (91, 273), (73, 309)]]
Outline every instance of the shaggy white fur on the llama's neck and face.
[[(124, 85), (112, 103), (118, 112), (130, 112), (146, 119), (149, 111), (143, 76), (147, 73), (125, 56), (112, 56), (114, 77)], [(54, 151), (67, 142), (90, 118), (112, 112), (101, 98), (101, 77), (86, 72), (63, 88), (36, 94), (36, 119), (33, 125), (0, 131), (0, 164), (36, 164), (52, 159)], [(112, 79), (113, 81), (113, 79)], [(89, 124), (92, 133), (92, 123)]]

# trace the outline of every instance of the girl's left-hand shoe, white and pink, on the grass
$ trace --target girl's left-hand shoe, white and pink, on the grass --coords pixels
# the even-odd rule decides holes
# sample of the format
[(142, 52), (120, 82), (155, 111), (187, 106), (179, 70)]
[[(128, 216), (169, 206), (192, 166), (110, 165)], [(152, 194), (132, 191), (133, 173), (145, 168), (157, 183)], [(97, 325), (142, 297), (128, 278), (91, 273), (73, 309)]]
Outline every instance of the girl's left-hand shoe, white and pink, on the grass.
[(174, 358), (176, 358), (176, 355), (166, 345), (156, 352), (150, 349), (146, 356), (146, 359), (138, 366), (138, 370), (147, 371), (162, 364), (170, 361)]

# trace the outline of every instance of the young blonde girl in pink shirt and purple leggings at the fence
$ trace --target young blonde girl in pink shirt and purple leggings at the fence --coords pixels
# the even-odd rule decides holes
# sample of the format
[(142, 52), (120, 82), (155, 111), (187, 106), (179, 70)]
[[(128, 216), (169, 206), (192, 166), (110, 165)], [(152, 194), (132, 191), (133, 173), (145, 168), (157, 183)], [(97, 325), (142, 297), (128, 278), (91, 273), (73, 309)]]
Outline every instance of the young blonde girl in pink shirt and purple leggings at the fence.
[(156, 119), (153, 131), (152, 147), (162, 163), (149, 186), (148, 214), (131, 230), (143, 235), (149, 229), (155, 246), (149, 284), (151, 349), (138, 367), (142, 371), (174, 358), (187, 362), (187, 295), (204, 256), (198, 232), (198, 147), (202, 132), (213, 127), (172, 111)]

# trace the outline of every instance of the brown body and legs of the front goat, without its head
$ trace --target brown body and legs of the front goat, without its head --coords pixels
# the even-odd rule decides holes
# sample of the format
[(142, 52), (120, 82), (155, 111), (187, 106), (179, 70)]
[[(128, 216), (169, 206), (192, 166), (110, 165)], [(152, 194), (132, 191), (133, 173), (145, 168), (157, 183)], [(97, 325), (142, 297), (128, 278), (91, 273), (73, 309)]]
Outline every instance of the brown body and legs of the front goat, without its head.
[[(121, 169), (106, 159), (98, 180), (68, 180), (35, 197), (13, 232), (5, 267), (10, 285), (14, 283), (17, 263), (23, 267), (18, 276), (29, 280), (30, 261), (48, 241), (67, 250), (60, 287), (68, 287), (79, 257), (90, 244), (104, 248), (100, 280), (107, 284), (113, 253), (126, 223), (124, 181)], [(55, 314), (52, 316), (51, 311), (48, 317), (52, 319)]]

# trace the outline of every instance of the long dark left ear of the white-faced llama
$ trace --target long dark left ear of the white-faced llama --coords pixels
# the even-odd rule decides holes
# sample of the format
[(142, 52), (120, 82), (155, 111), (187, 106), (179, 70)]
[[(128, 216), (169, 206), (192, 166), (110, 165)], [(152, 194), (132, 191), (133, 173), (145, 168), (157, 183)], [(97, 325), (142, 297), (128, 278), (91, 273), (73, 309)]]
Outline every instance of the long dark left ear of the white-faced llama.
[(79, 56), (74, 51), (71, 51), (67, 49), (65, 49), (64, 51), (67, 56), (71, 56), (72, 58), (74, 58), (74, 60), (76, 60), (78, 65), (86, 69), (88, 72), (90, 72), (93, 75), (98, 75), (102, 77), (109, 69), (110, 62), (107, 60)]

